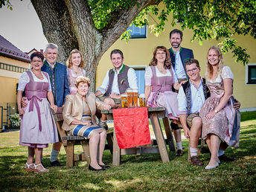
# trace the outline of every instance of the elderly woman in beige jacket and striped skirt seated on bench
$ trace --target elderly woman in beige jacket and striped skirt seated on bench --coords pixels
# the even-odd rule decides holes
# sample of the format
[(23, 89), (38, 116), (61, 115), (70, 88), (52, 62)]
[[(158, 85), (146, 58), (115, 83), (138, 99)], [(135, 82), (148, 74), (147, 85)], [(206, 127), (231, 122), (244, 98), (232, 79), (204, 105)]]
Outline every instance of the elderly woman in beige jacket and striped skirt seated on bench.
[(91, 164), (89, 170), (106, 170), (102, 161), (106, 142), (106, 130), (96, 124), (96, 109), (110, 109), (101, 102), (94, 93), (89, 92), (90, 80), (87, 77), (77, 77), (75, 86), (77, 94), (67, 95), (63, 109), (63, 129), (71, 135), (89, 138)]

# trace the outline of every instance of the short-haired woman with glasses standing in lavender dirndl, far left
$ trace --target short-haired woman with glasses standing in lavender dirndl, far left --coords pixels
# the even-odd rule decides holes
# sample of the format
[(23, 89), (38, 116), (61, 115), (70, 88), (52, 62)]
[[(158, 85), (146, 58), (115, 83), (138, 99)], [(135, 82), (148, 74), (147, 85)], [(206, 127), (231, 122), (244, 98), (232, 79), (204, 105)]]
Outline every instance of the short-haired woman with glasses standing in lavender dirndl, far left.
[[(41, 71), (43, 59), (40, 52), (31, 54), (32, 69), (25, 71), (19, 78), (17, 93), (17, 105), (22, 118), (19, 144), (28, 146), (25, 170), (34, 173), (49, 171), (41, 164), (42, 149), (48, 147), (49, 143), (59, 141), (57, 127), (51, 114), (51, 109), (56, 112), (57, 106), (54, 105), (48, 74)], [(24, 91), (28, 106), (22, 108)], [(33, 156), (35, 156), (34, 163)]]

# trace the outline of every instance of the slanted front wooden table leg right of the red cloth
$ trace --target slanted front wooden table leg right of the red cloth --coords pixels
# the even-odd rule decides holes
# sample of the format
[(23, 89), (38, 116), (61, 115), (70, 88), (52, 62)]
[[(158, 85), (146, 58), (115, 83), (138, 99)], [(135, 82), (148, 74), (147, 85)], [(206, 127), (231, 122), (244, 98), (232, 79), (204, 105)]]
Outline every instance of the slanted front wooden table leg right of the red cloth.
[(159, 118), (157, 117), (156, 112), (150, 112), (150, 120), (156, 135), (156, 142), (158, 144), (159, 147), (159, 153), (161, 156), (161, 161), (165, 162), (169, 162), (169, 156), (167, 153), (167, 147), (164, 141), (164, 135), (163, 132), (161, 131), (161, 126), (159, 123)]

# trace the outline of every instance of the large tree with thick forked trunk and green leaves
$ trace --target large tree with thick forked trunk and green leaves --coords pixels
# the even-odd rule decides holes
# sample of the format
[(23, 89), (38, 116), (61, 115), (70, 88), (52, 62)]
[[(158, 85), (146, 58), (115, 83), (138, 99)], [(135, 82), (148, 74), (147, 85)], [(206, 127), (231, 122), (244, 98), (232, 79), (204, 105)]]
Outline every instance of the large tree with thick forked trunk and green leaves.
[[(255, 0), (31, 0), (48, 42), (60, 48), (65, 62), (73, 48), (79, 48), (86, 60), (86, 72), (95, 81), (96, 68), (104, 52), (120, 38), (128, 40), (129, 25), (153, 24), (150, 30), (159, 36), (165, 25), (180, 25), (193, 31), (191, 41), (200, 44), (216, 39), (222, 51), (232, 51), (236, 61), (249, 63), (249, 54), (236, 35), (256, 38)], [(161, 6), (159, 4), (161, 3)], [(11, 9), (10, 0), (0, 0)], [(164, 5), (164, 6), (162, 6)], [(156, 18), (157, 19), (154, 19)], [(170, 17), (171, 16), (171, 17)], [(170, 18), (172, 18), (170, 20)], [(170, 20), (170, 21), (169, 21)]]

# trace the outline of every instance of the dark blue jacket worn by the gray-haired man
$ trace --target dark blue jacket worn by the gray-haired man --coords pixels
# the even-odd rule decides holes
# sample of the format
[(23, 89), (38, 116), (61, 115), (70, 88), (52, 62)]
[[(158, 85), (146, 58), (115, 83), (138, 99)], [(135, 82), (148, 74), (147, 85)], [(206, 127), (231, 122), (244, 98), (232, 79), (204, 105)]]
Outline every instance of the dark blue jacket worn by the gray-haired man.
[[(45, 71), (51, 77), (50, 65), (44, 62), (41, 70)], [(51, 79), (51, 78), (50, 78)], [(54, 103), (57, 106), (63, 106), (65, 103), (65, 96), (70, 94), (68, 87), (68, 75), (67, 75), (67, 66), (61, 63), (55, 64), (55, 86), (56, 94), (54, 95)]]

